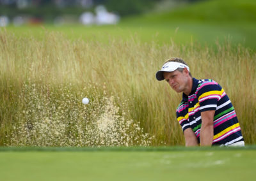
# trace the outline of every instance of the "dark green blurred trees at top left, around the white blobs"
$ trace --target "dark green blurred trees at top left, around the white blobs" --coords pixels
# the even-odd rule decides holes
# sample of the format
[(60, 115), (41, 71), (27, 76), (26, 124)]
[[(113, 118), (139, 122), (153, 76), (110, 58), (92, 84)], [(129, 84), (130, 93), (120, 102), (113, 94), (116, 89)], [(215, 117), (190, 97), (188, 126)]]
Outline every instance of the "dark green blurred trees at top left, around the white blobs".
[(84, 11), (92, 11), (95, 6), (103, 4), (109, 11), (114, 11), (118, 15), (128, 16), (140, 14), (154, 6), (154, 3), (160, 0), (96, 0), (93, 1), (92, 7), (78, 6), (74, 3), (68, 3), (63, 7), (58, 7), (53, 1), (40, 1), (36, 4), (29, 4), (26, 8), (17, 8), (15, 4), (1, 4), (0, 15), (7, 15), (13, 18), (17, 15), (29, 15), (38, 18), (51, 19), (60, 15), (74, 15), (79, 16)]

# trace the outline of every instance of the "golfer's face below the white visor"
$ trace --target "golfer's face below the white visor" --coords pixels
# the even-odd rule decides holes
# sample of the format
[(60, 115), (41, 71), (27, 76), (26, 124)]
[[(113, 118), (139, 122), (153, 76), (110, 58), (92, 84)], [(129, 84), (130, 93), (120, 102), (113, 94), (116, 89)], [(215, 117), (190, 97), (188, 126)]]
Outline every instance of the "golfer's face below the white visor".
[(164, 80), (169, 83), (176, 92), (185, 92), (188, 88), (188, 73), (183, 69), (182, 72), (175, 70), (163, 73)]

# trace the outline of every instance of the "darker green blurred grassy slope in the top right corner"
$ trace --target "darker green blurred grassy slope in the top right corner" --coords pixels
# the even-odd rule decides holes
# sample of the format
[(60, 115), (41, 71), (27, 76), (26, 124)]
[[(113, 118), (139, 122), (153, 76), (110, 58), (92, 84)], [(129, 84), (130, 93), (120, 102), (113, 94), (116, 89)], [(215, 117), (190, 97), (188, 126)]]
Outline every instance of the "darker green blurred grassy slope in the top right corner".
[(172, 11), (148, 13), (138, 21), (167, 23), (173, 21), (193, 22), (255, 22), (256, 1), (254, 0), (211, 0), (187, 4)]

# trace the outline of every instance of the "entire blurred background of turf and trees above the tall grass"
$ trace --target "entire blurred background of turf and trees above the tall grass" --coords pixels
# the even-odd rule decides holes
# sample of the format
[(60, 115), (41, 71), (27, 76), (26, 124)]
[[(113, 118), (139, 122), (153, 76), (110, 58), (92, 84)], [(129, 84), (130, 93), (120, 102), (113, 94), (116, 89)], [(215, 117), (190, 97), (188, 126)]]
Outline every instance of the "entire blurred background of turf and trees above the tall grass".
[(254, 0), (1, 0), (0, 27), (36, 34), (43, 25), (86, 39), (104, 33), (100, 41), (131, 34), (160, 44), (232, 41), (254, 50), (255, 12)]

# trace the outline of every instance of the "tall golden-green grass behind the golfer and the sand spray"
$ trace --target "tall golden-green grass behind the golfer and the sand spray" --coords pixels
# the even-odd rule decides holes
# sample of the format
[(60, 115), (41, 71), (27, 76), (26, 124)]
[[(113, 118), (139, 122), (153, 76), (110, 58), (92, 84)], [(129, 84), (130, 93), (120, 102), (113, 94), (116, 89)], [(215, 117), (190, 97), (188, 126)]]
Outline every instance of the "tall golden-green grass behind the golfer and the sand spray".
[(39, 40), (0, 31), (0, 144), (184, 144), (175, 118), (181, 94), (155, 78), (169, 57), (182, 57), (196, 78), (220, 83), (246, 143), (255, 143), (256, 54), (231, 45), (160, 46), (136, 36), (101, 43), (51, 32)]

